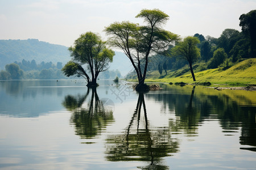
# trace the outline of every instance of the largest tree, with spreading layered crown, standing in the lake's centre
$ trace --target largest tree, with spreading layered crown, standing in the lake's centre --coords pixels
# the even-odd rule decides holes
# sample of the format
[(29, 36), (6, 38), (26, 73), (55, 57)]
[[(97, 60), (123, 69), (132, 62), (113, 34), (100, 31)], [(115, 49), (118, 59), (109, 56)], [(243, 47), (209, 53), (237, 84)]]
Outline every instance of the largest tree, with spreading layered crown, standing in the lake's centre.
[(178, 40), (179, 36), (162, 29), (161, 26), (167, 22), (169, 16), (158, 9), (141, 10), (136, 18), (144, 19), (147, 25), (115, 22), (106, 27), (105, 32), (111, 36), (109, 44), (123, 50), (130, 59), (139, 82), (135, 90), (144, 91), (148, 57), (152, 53), (165, 53), (168, 46)]

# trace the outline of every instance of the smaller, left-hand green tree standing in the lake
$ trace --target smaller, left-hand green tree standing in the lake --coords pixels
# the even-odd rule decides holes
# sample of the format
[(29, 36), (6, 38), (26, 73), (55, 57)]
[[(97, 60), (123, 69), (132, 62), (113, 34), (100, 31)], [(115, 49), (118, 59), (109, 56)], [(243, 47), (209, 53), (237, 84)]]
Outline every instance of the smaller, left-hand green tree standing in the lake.
[[(77, 75), (87, 80), (88, 87), (97, 86), (98, 74), (109, 69), (109, 62), (113, 61), (114, 52), (106, 48), (106, 41), (93, 32), (82, 34), (69, 48), (72, 61), (69, 61), (62, 69), (66, 76)], [(86, 73), (85, 65), (91, 76)]]

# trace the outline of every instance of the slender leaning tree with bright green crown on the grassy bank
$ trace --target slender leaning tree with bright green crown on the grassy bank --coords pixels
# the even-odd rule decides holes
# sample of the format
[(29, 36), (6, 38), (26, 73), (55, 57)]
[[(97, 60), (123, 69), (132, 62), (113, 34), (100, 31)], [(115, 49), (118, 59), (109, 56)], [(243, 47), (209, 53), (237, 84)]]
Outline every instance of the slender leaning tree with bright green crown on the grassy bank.
[(179, 42), (174, 48), (172, 48), (172, 52), (175, 56), (188, 61), (194, 81), (196, 81), (196, 78), (193, 72), (192, 63), (200, 57), (200, 50), (197, 47), (197, 44), (199, 43), (200, 41), (197, 37), (186, 37), (183, 41)]

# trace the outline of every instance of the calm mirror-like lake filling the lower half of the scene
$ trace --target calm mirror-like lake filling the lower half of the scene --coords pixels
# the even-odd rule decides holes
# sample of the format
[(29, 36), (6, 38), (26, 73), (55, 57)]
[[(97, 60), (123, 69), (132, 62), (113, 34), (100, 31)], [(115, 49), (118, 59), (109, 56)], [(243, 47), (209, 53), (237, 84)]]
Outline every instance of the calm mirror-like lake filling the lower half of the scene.
[(256, 169), (256, 92), (0, 81), (0, 169)]

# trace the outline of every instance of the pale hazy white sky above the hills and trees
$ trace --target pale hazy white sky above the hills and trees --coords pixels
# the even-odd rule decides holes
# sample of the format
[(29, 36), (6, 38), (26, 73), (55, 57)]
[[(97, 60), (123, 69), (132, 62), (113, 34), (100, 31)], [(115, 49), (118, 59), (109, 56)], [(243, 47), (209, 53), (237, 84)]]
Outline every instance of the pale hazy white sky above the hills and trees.
[(256, 9), (256, 0), (1, 0), (0, 39), (39, 39), (71, 46), (81, 33), (100, 33), (115, 21), (143, 24), (135, 16), (158, 8), (170, 16), (164, 26), (180, 36), (219, 37), (226, 28), (241, 31), (239, 17)]

